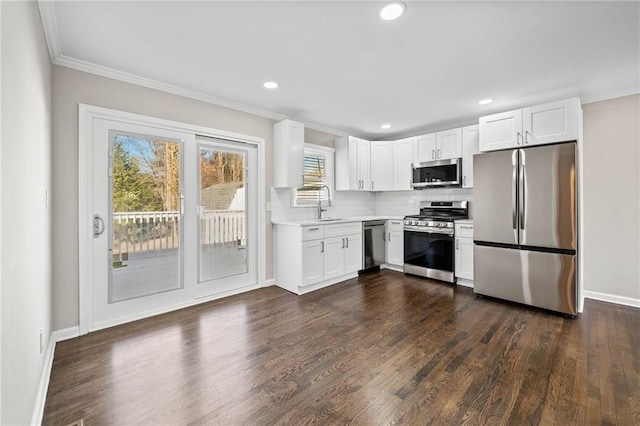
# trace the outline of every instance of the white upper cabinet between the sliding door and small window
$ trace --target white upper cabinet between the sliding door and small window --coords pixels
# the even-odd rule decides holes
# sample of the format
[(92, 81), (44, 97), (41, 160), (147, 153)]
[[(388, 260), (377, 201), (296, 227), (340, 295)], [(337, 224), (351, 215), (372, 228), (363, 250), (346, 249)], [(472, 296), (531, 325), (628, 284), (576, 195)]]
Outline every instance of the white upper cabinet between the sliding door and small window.
[(273, 186), (297, 188), (304, 180), (304, 125), (283, 120), (273, 125)]

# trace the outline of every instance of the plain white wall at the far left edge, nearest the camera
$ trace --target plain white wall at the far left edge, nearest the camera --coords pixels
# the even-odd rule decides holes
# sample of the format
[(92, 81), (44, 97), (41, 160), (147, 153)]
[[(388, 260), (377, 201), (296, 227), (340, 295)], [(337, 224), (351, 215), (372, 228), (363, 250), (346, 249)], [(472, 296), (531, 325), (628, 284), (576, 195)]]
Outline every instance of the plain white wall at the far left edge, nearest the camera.
[[(28, 424), (51, 333), (51, 63), (35, 2), (2, 2), (2, 424)], [(43, 351), (44, 352), (44, 351)]]

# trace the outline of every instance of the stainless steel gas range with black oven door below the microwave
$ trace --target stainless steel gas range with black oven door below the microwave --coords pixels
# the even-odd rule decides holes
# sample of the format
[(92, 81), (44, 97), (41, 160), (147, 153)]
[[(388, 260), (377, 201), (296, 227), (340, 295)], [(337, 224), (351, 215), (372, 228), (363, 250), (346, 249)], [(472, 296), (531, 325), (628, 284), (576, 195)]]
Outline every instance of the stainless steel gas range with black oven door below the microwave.
[(469, 217), (467, 201), (430, 201), (404, 218), (404, 272), (454, 283), (454, 220)]

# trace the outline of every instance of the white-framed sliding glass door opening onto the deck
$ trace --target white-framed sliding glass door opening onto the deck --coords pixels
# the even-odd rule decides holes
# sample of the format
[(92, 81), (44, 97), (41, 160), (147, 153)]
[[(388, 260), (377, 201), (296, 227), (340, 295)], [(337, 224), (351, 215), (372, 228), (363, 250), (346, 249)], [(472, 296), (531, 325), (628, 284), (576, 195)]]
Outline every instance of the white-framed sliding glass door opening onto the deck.
[(257, 285), (254, 146), (106, 119), (92, 132), (89, 330)]

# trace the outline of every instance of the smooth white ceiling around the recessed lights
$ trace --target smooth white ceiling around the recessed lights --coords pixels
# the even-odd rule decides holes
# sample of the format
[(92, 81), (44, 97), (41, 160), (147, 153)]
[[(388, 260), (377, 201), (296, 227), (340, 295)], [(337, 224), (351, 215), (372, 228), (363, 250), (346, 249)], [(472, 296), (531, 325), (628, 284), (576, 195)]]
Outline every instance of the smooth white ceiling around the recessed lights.
[(40, 8), (54, 63), (373, 140), (640, 92), (639, 2), (406, 3), (395, 21), (368, 1)]

